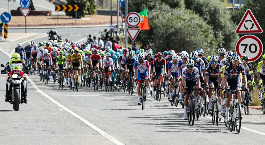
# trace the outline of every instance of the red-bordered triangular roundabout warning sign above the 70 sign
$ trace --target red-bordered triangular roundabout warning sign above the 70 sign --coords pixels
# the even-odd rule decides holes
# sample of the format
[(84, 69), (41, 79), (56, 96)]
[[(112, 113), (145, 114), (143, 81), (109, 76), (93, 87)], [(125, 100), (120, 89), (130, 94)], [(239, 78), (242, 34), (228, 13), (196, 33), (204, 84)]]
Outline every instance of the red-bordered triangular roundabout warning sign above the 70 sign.
[(258, 21), (252, 14), (250, 9), (247, 9), (239, 25), (237, 26), (235, 33), (262, 33)]

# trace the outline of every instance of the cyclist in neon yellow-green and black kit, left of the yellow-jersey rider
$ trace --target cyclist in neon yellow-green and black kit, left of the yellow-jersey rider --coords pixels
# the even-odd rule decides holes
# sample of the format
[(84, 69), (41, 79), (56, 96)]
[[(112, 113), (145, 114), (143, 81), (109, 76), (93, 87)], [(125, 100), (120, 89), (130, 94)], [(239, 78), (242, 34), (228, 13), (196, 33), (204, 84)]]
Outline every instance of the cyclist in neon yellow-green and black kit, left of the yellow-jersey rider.
[[(66, 66), (66, 58), (65, 56), (63, 56), (63, 51), (60, 50), (59, 51), (59, 56), (56, 57), (56, 60), (55, 60), (55, 70), (60, 69), (60, 71), (62, 72), (63, 74), (63, 78), (61, 78), (61, 81), (63, 81), (63, 86), (64, 86), (64, 69), (67, 67)], [(59, 76), (59, 72), (57, 72), (58, 76)]]

